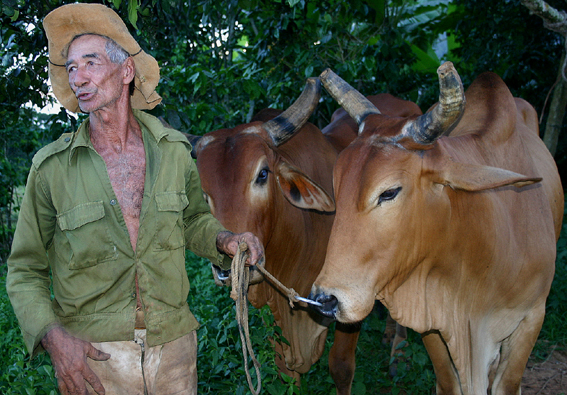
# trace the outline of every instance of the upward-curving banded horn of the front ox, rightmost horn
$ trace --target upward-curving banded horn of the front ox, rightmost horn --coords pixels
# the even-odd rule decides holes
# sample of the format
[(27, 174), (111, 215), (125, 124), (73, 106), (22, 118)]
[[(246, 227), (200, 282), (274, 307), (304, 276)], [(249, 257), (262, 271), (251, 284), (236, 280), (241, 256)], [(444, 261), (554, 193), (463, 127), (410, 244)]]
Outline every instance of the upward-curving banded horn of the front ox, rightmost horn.
[(407, 133), (420, 144), (431, 144), (449, 134), (459, 123), (465, 110), (465, 91), (453, 63), (445, 62), (437, 69), (439, 103), (431, 111), (406, 124)]

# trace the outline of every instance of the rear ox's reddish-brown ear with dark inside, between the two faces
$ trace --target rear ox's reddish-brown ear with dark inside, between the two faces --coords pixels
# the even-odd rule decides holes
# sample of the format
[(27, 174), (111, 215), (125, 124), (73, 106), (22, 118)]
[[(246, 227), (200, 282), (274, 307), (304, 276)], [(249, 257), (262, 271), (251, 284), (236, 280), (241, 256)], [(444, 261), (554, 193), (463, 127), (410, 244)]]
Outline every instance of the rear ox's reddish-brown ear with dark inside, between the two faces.
[(335, 201), (325, 190), (300, 170), (281, 161), (276, 168), (278, 185), (285, 198), (295, 207), (334, 212)]

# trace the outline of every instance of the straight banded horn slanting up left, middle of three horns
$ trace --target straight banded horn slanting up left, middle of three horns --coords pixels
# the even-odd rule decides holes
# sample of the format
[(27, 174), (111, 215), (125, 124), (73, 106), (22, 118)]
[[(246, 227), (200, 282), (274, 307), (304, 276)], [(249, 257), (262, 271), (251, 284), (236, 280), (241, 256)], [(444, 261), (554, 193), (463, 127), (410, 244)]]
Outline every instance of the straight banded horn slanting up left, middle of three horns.
[(331, 69), (326, 69), (319, 76), (323, 86), (357, 124), (361, 124), (370, 114), (380, 114), (380, 110), (364, 97), (359, 91), (350, 86), (345, 80), (336, 75)]

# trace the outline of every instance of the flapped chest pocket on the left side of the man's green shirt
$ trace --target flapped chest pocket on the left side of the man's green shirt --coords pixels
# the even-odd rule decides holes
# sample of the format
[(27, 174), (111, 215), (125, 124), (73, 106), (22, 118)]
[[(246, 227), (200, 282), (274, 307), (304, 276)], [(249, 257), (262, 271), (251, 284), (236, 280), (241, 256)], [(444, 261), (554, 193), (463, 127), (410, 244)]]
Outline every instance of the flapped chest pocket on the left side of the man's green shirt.
[(72, 254), (70, 269), (82, 269), (116, 259), (116, 246), (108, 232), (102, 201), (80, 204), (57, 215)]

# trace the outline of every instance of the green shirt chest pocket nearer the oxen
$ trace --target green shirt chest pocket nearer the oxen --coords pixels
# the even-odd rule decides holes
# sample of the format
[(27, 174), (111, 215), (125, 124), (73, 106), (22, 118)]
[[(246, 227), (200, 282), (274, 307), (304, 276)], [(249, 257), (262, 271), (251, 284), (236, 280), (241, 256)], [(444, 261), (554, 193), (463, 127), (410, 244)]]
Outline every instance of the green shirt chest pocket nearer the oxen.
[(156, 193), (156, 242), (158, 250), (185, 246), (183, 210), (189, 205), (185, 191)]

